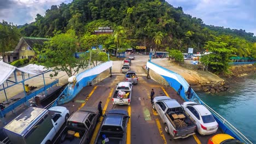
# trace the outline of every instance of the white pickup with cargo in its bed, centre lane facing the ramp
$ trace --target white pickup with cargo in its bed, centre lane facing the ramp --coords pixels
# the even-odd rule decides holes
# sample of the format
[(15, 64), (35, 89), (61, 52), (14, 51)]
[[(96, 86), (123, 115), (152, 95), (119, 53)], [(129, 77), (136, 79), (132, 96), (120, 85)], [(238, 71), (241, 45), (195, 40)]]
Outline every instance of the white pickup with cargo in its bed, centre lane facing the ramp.
[(131, 82), (119, 82), (112, 98), (113, 104), (130, 105), (131, 92), (132, 92)]

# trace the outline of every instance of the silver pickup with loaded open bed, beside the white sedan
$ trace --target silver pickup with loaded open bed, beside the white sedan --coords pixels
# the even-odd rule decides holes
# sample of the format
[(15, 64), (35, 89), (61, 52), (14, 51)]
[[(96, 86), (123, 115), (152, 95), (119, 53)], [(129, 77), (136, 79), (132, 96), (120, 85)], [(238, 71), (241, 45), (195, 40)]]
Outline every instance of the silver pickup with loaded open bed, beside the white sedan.
[(196, 124), (184, 112), (178, 101), (166, 96), (155, 97), (152, 107), (165, 124), (165, 132), (173, 139), (184, 139), (195, 134)]

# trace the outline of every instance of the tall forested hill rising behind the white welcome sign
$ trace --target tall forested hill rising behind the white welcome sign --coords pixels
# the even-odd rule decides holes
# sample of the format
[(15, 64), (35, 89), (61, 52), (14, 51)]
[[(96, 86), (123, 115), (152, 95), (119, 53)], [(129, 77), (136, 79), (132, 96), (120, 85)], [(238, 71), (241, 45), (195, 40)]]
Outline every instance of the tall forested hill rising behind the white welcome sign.
[(45, 16), (37, 14), (36, 21), (20, 28), (23, 36), (53, 37), (58, 31), (74, 29), (78, 37), (90, 35), (101, 26), (117, 26), (126, 29), (129, 45), (156, 47), (155, 34), (162, 33), (159, 49), (166, 47), (187, 52), (203, 51), (206, 41), (212, 40), (211, 34), (227, 34), (250, 42), (255, 42), (252, 33), (238, 33), (227, 29), (206, 26), (201, 19), (184, 14), (181, 7), (174, 8), (165, 1), (153, 0), (74, 0), (69, 4), (53, 5), (46, 10)]

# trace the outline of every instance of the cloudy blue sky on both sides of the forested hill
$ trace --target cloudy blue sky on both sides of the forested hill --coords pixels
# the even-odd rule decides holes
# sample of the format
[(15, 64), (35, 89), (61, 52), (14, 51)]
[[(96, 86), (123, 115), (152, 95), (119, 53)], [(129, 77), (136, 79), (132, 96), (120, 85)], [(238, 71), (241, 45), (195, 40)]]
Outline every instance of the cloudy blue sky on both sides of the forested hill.
[[(72, 0), (0, 0), (0, 21), (15, 25), (31, 23), (37, 14), (44, 15), (51, 5)], [(185, 14), (202, 19), (206, 25), (245, 29), (256, 35), (256, 0), (166, 0), (182, 7)]]

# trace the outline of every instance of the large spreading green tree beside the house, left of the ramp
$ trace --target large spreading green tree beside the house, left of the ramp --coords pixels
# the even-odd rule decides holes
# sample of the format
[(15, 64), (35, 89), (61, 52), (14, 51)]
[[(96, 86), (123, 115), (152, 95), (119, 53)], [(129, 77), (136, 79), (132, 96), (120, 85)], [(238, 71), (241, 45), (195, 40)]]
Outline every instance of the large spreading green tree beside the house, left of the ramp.
[[(44, 66), (53, 68), (54, 76), (58, 72), (65, 71), (69, 77), (78, 73), (79, 69), (86, 68), (88, 64), (73, 55), (77, 51), (78, 39), (73, 30), (67, 33), (56, 34), (50, 41), (45, 42), (42, 51), (37, 50), (37, 59), (44, 62)], [(53, 75), (51, 75), (53, 76)]]

